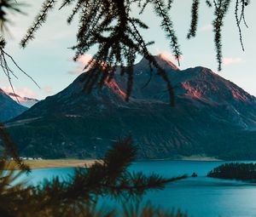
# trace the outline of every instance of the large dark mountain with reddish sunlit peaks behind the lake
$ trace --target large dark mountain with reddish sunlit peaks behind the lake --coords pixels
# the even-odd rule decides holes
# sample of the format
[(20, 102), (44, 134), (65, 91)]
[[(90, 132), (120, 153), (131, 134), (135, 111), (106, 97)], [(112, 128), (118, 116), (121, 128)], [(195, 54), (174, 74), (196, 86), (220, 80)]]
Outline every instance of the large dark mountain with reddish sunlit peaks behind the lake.
[(129, 103), (124, 100), (125, 77), (84, 94), (84, 73), (9, 121), (20, 153), (102, 157), (113, 140), (131, 134), (139, 158), (255, 159), (256, 98), (210, 69), (179, 70), (162, 56), (155, 58), (172, 81), (176, 106), (170, 106), (166, 82), (156, 70), (150, 78), (144, 59), (134, 66)]

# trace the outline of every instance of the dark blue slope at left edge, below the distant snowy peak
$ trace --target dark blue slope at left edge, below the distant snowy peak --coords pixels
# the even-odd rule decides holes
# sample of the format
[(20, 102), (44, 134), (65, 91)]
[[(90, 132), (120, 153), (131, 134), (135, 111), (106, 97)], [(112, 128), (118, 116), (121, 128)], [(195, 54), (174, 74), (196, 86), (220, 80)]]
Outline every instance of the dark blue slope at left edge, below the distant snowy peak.
[(5, 122), (26, 111), (25, 106), (21, 106), (15, 100), (12, 100), (3, 89), (0, 89), (0, 122)]

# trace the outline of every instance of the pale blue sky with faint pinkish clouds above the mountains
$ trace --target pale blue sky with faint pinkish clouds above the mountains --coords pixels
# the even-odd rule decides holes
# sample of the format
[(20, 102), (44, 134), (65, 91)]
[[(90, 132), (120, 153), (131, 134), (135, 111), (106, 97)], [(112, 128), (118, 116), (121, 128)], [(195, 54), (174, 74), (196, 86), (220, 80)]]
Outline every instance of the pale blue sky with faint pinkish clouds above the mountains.
[[(26, 71), (40, 86), (40, 89), (32, 81), (15, 70), (18, 79), (15, 77), (12, 82), (15, 92), (21, 96), (33, 97), (39, 100), (48, 95), (53, 95), (65, 89), (73, 80), (79, 76), (83, 70), (84, 62), (94, 54), (91, 49), (88, 54), (84, 54), (79, 61), (73, 62), (73, 50), (68, 49), (76, 43), (76, 31), (78, 22), (75, 20), (72, 25), (67, 25), (67, 15), (71, 9), (53, 10), (48, 20), (36, 33), (36, 38), (28, 44), (26, 49), (20, 48), (20, 39), (25, 35), (26, 29), (32, 21), (44, 1), (20, 0), (26, 3), (23, 6), (25, 14), (11, 14), (9, 16), (9, 32), (6, 31), (7, 39), (6, 52), (11, 54), (19, 66)], [(233, 1), (234, 2), (234, 1)], [(60, 1), (61, 3), (61, 1)], [(235, 4), (230, 7), (230, 11), (224, 20), (223, 28), (223, 55), (224, 65), (222, 71), (217, 71), (218, 63), (215, 58), (215, 49), (212, 33), (212, 10), (208, 9), (201, 1), (200, 19), (197, 36), (188, 40), (186, 38), (190, 24), (191, 0), (174, 1), (171, 14), (174, 28), (177, 32), (178, 42), (183, 52), (180, 69), (195, 66), (204, 66), (212, 69), (220, 76), (236, 83), (249, 94), (256, 96), (256, 25), (253, 20), (256, 18), (255, 1), (246, 8), (246, 18), (249, 28), (242, 27), (245, 52), (241, 50), (239, 35), (236, 28), (234, 15)], [(132, 9), (132, 14), (138, 17), (137, 8)], [(166, 40), (165, 33), (160, 29), (160, 19), (157, 18), (153, 9), (149, 7), (142, 15), (142, 20), (149, 26), (147, 31), (143, 31), (146, 41), (154, 41), (154, 45), (149, 47), (152, 54), (166, 54), (173, 63), (171, 48)], [(140, 58), (137, 58), (139, 61)], [(8, 79), (0, 73), (0, 88), (10, 91)]]

